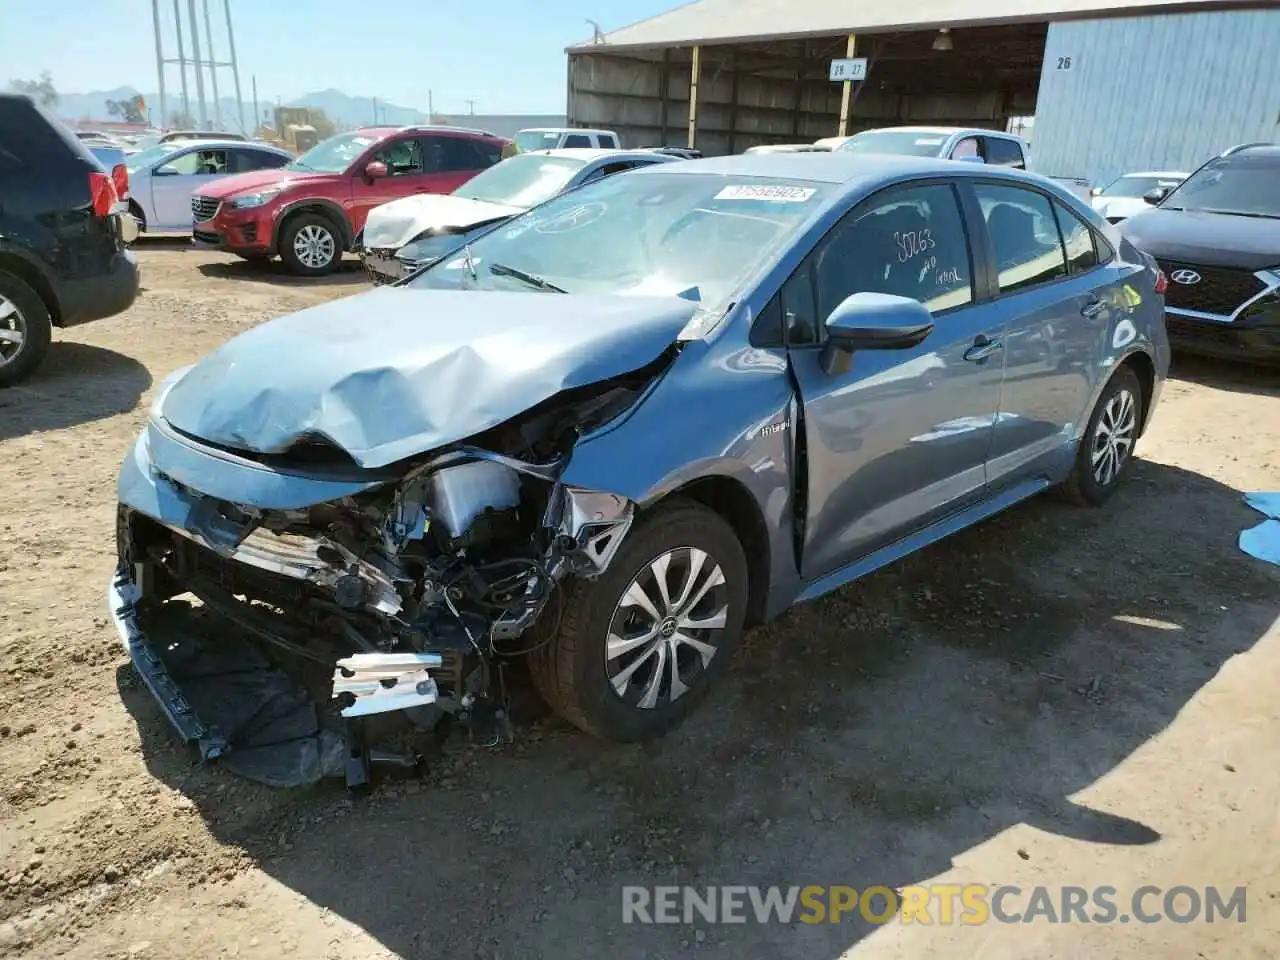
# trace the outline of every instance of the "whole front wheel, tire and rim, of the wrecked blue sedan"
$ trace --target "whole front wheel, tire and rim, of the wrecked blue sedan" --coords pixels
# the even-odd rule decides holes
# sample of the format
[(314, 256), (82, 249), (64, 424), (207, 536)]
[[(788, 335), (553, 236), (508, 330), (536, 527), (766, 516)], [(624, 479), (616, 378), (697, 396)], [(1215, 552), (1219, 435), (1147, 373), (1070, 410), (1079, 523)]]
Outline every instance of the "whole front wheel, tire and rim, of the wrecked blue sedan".
[(746, 599), (732, 527), (701, 504), (673, 502), (636, 522), (598, 580), (568, 585), (558, 635), (530, 655), (534, 684), (589, 733), (660, 736), (723, 672)]

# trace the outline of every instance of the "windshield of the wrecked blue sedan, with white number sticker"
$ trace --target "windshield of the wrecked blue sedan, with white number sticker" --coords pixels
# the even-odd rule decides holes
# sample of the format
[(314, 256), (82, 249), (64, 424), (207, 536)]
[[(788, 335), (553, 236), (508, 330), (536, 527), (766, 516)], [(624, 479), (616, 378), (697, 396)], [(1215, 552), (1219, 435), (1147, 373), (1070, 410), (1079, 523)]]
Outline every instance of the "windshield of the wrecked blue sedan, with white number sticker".
[(607, 177), (477, 237), (411, 283), (682, 294), (721, 305), (795, 237), (832, 189), (809, 180), (703, 173)]

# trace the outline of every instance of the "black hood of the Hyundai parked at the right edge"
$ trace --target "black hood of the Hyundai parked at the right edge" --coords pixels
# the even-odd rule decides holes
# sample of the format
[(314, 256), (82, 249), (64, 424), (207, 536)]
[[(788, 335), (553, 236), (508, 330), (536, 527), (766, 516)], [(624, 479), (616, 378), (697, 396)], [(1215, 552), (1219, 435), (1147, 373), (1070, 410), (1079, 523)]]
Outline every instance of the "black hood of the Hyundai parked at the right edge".
[(1238, 270), (1280, 265), (1280, 220), (1156, 207), (1130, 216), (1120, 232), (1161, 260)]

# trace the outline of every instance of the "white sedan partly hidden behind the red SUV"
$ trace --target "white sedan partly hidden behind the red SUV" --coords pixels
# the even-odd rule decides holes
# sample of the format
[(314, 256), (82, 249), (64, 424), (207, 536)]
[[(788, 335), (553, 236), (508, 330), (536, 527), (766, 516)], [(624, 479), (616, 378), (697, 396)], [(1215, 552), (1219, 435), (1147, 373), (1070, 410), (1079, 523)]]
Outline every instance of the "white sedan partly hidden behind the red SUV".
[(269, 143), (179, 140), (124, 159), (129, 212), (146, 233), (189, 233), (191, 197), (211, 180), (250, 170), (276, 170), (293, 155)]

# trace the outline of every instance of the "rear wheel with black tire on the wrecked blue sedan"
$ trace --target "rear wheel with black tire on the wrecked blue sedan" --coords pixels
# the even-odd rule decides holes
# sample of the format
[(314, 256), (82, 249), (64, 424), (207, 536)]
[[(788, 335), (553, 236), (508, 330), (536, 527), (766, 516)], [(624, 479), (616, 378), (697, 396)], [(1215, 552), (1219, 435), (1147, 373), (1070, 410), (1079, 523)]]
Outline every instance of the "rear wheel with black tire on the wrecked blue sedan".
[[(1133, 463), (1133, 449), (1142, 430), (1143, 415), (1142, 383), (1132, 367), (1121, 366), (1111, 375), (1111, 380), (1098, 397), (1089, 425), (1076, 447), (1075, 465), (1061, 488), (1069, 500), (1082, 507), (1101, 507), (1111, 499), (1111, 494), (1116, 492), (1129, 472), (1129, 465)], [(1110, 435), (1128, 440), (1123, 445), (1119, 442), (1114, 444), (1120, 456), (1117, 466), (1108, 461), (1108, 454), (1105, 453)], [(1103, 460), (1096, 468), (1094, 457), (1098, 454)], [(1111, 462), (1110, 470), (1106, 468), (1108, 462)]]

